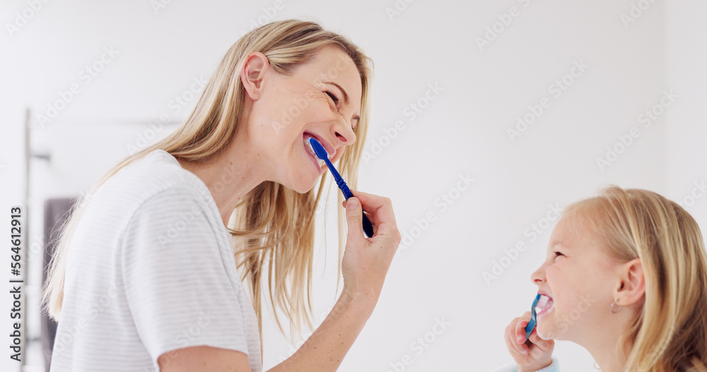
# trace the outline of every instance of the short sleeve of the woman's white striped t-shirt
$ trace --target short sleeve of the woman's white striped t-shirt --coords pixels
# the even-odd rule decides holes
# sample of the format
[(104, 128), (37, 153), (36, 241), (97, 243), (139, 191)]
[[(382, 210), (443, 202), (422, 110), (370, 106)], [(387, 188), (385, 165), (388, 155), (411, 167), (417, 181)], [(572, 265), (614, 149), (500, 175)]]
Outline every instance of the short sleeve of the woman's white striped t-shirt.
[(127, 225), (125, 292), (155, 366), (161, 354), (183, 347), (248, 353), (243, 287), (228, 275), (223, 249), (230, 247), (222, 247), (228, 239), (219, 239), (226, 232), (214, 226), (221, 222), (214, 214), (193, 188), (173, 186), (148, 198)]

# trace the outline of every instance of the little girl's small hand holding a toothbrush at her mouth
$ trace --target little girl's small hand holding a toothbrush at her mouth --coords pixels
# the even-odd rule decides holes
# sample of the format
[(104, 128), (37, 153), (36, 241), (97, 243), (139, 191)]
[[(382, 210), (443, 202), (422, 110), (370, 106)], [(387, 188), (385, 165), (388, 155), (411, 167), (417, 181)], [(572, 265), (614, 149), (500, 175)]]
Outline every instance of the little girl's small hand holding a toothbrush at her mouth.
[(518, 364), (518, 372), (537, 371), (552, 364), (554, 340), (542, 340), (537, 335), (537, 328), (532, 330), (528, 342), (525, 342), (525, 327), (530, 321), (530, 311), (520, 318), (513, 319), (506, 327), (506, 346)]

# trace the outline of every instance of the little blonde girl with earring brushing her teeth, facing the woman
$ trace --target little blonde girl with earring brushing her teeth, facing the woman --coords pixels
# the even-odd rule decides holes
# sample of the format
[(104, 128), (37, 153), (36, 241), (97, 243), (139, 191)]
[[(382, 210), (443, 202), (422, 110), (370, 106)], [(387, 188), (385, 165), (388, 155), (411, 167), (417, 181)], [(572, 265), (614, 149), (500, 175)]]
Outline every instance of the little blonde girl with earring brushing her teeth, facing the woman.
[(531, 278), (551, 301), (529, 342), (530, 312), (506, 328), (518, 371), (559, 371), (554, 340), (585, 347), (603, 372), (707, 371), (707, 258), (677, 203), (614, 186), (570, 205)]

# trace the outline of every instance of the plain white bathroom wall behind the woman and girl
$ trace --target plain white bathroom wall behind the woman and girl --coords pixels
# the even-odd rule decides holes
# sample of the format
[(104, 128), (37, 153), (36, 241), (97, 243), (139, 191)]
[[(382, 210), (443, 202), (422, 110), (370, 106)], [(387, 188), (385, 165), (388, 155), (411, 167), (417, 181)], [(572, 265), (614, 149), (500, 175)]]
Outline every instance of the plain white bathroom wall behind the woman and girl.
[[(44, 113), (60, 91), (72, 84), (80, 91), (44, 131), (36, 128), (44, 133), (37, 146), (65, 155), (49, 165), (33, 162), (43, 180), (32, 185), (37, 205), (45, 196), (86, 188), (103, 164), (127, 155), (128, 145), (146, 133), (148, 126), (139, 123), (162, 114), (184, 119), (194, 100), (180, 112), (170, 100), (189, 96), (194, 79), (206, 78), (252, 23), (318, 20), (351, 37), (375, 61), (359, 188), (390, 196), (404, 236), (415, 236), (400, 247), (378, 307), (341, 371), (491, 371), (510, 361), (503, 329), (530, 305), (530, 273), (544, 257), (551, 225), (542, 219), (551, 205), (561, 208), (607, 184), (677, 200), (693, 181), (707, 178), (700, 143), (707, 134), (707, 76), (699, 70), (706, 56), (703, 47), (695, 51), (707, 37), (700, 21), (704, 6), (656, 1), (626, 28), (621, 16), (638, 0), (282, 1), (279, 10), (275, 1), (172, 1), (157, 13), (150, 1), (49, 1), (13, 35), (1, 35), (9, 56), (0, 59), (9, 87), (0, 93), (3, 210), (23, 198), (25, 107)], [(396, 4), (402, 10), (391, 19), (387, 8)], [(517, 16), (506, 16), (512, 6)], [(0, 7), (12, 23), (28, 3)], [(484, 38), (486, 27), (500, 30), (509, 18), (480, 48), (477, 37)], [(117, 54), (106, 54), (110, 62), (88, 80), (84, 68), (106, 49)], [(558, 91), (556, 80), (563, 78), (568, 86)], [(428, 94), (431, 86), (438, 94)], [(679, 95), (674, 106), (646, 128), (641, 113), (670, 89)], [(425, 102), (426, 94), (434, 99)], [(412, 115), (416, 102), (425, 107)], [(541, 102), (549, 107), (511, 140), (508, 128)], [(134, 125), (115, 125), (120, 122)], [(633, 127), (640, 136), (621, 150), (619, 136)], [(114, 140), (105, 146), (93, 139), (105, 133), (119, 134), (108, 136)], [(158, 136), (166, 133), (168, 128)], [(621, 154), (602, 170), (597, 157), (606, 156), (607, 146), (618, 146)], [(474, 179), (468, 188), (458, 183), (464, 176)], [(456, 199), (448, 203), (445, 194)], [(691, 206), (703, 226), (706, 205), (697, 200)], [(329, 227), (336, 223), (334, 208)], [(8, 213), (1, 219), (6, 226)], [(532, 224), (544, 229), (531, 241), (525, 231)], [(317, 245), (317, 262), (328, 263), (315, 275), (317, 320), (335, 299), (332, 233)], [(504, 259), (518, 241), (527, 244), (525, 251)], [(7, 260), (1, 255), (0, 267)], [(487, 283), (482, 273), (501, 260), (510, 265)], [(8, 305), (8, 296), (0, 296), (0, 306)], [(416, 340), (437, 320), (448, 327), (420, 347)], [(272, 325), (264, 344), (266, 367), (291, 351)], [(400, 365), (405, 355), (409, 366)], [(595, 371), (591, 356), (573, 344), (559, 342), (556, 355), (563, 369)]]

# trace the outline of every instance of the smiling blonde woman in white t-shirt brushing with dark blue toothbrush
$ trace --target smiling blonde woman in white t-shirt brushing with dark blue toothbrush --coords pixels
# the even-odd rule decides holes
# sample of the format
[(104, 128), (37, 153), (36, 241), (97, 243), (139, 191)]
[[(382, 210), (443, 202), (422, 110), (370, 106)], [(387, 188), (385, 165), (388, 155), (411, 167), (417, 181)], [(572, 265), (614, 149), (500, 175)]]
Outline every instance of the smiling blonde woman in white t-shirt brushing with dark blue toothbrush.
[[(59, 319), (52, 371), (261, 371), (263, 303), (295, 329), (311, 313), (325, 180), (312, 186), (325, 166), (304, 140), (319, 139), (356, 184), (369, 64), (316, 23), (269, 23), (238, 40), (189, 119), (118, 164), (71, 217), (45, 287)], [(335, 371), (378, 301), (400, 235), (389, 199), (354, 195), (339, 196), (341, 297), (270, 371)]]

